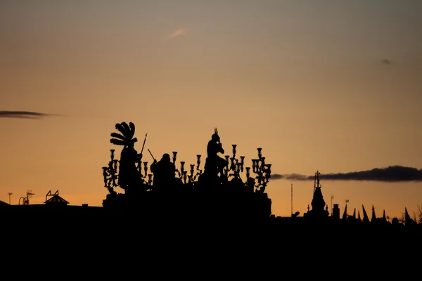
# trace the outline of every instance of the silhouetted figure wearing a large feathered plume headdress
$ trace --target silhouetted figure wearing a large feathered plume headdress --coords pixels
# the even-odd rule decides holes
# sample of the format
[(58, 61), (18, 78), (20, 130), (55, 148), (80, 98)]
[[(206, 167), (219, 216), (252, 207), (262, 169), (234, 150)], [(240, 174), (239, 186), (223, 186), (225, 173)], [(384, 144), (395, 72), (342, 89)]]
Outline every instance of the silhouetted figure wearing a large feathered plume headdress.
[(138, 141), (134, 138), (135, 125), (132, 122), (117, 123), (115, 129), (120, 133), (111, 133), (110, 143), (114, 145), (122, 145), (123, 149), (120, 152), (120, 166), (119, 166), (119, 186), (125, 192), (139, 187), (142, 183), (141, 172), (136, 167), (136, 163), (141, 161), (142, 155), (134, 148), (134, 143)]

